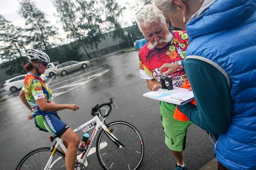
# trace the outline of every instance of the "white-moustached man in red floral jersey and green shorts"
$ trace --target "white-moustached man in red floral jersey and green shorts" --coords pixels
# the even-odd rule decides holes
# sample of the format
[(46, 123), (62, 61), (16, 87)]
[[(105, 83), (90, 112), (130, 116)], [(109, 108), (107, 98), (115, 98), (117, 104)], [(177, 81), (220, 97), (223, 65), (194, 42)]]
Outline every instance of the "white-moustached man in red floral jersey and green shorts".
[[(169, 20), (163, 15), (157, 16), (153, 5), (145, 5), (138, 13), (137, 24), (148, 43), (140, 49), (140, 77), (147, 80), (150, 90), (161, 88), (160, 77), (162, 68), (168, 65), (173, 86), (181, 87), (188, 78), (183, 70), (182, 62), (188, 47), (186, 31), (169, 31)], [(171, 67), (171, 68), (170, 68)], [(160, 70), (159, 70), (160, 69)], [(171, 149), (177, 160), (175, 170), (186, 170), (182, 151), (185, 149), (186, 133), (190, 121), (179, 121), (173, 118), (176, 106), (160, 102), (160, 115), (165, 134), (165, 144)]]

